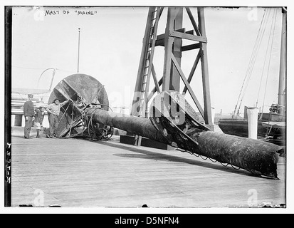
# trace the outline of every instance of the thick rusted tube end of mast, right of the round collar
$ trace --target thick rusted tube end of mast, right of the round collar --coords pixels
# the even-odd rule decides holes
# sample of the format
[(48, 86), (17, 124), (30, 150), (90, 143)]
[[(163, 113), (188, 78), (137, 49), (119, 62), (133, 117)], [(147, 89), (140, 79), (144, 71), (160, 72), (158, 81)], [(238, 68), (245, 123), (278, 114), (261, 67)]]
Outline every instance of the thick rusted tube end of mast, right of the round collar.
[(214, 132), (201, 133), (195, 140), (199, 142), (195, 152), (204, 152), (207, 157), (236, 165), (256, 175), (278, 177), (278, 153), (283, 151), (278, 145)]

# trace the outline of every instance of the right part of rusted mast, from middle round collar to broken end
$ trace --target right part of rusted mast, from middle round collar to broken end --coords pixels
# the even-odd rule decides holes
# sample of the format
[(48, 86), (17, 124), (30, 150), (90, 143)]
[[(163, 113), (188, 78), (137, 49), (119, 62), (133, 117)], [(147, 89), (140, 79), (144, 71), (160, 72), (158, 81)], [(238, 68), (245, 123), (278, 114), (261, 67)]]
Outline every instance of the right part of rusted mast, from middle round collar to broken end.
[[(152, 124), (167, 138), (169, 145), (235, 165), (256, 175), (278, 177), (278, 153), (283, 151), (282, 147), (261, 140), (214, 133), (194, 120), (189, 113), (191, 106), (183, 100), (177, 93), (163, 92), (151, 107)], [(177, 110), (172, 110), (171, 103), (177, 104)]]

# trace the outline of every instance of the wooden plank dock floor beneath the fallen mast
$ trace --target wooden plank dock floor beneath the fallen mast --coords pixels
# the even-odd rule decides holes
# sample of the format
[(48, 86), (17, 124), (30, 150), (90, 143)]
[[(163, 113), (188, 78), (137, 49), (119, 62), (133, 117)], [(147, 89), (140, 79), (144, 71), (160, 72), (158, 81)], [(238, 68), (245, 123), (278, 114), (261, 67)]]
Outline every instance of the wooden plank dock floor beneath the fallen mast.
[(110, 141), (26, 140), (21, 130), (13, 130), (11, 138), (13, 207), (248, 208), (265, 202), (285, 204), (285, 157), (278, 162), (280, 180), (273, 180), (187, 152), (125, 145), (115, 135)]

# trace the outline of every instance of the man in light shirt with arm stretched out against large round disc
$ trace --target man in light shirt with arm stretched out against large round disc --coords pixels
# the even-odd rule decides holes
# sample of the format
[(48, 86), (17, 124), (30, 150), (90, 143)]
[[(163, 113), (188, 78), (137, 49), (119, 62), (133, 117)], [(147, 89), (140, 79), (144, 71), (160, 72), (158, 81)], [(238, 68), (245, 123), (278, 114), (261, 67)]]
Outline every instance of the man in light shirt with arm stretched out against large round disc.
[[(71, 100), (71, 99), (70, 99)], [(49, 118), (49, 128), (50, 133), (47, 136), (48, 138), (56, 138), (56, 129), (58, 127), (58, 115), (61, 112), (61, 107), (68, 103), (69, 100), (65, 100), (60, 103), (61, 100), (58, 98), (53, 100), (53, 103), (47, 106), (46, 111), (48, 113)]]

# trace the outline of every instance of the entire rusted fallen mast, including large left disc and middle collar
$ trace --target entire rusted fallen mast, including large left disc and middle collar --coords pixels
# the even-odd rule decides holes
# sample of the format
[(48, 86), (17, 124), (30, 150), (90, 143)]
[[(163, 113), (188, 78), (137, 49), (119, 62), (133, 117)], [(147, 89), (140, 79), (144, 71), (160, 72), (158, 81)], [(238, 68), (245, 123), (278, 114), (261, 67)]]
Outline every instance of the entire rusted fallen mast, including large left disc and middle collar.
[[(98, 95), (91, 95), (90, 99), (95, 98), (95, 103), (89, 100), (87, 93), (93, 89), (86, 86), (93, 87), (93, 83), (88, 85), (83, 83), (83, 86), (77, 83), (70, 85), (70, 81), (80, 81), (81, 76), (83, 80), (90, 77), (77, 74), (65, 78), (56, 86), (53, 90), (54, 94), (49, 98), (53, 100), (57, 95), (61, 100), (68, 98), (73, 100), (73, 103), (68, 104), (72, 108), (66, 108), (60, 114), (60, 118), (65, 116), (66, 120), (61, 127), (58, 127), (60, 136), (70, 133), (80, 123), (82, 125), (90, 123), (87, 126), (83, 125), (83, 130), (107, 125), (240, 167), (254, 175), (278, 178), (278, 153), (283, 151), (283, 147), (261, 140), (215, 133), (194, 118), (194, 110), (179, 93), (162, 92), (157, 95), (149, 109), (149, 119), (122, 115), (108, 111), (105, 104), (99, 103)], [(103, 98), (105, 97), (107, 95), (103, 90)], [(83, 100), (83, 105), (80, 105), (80, 100)]]

